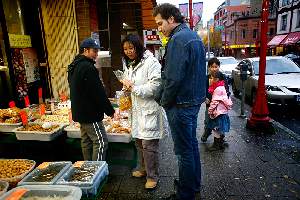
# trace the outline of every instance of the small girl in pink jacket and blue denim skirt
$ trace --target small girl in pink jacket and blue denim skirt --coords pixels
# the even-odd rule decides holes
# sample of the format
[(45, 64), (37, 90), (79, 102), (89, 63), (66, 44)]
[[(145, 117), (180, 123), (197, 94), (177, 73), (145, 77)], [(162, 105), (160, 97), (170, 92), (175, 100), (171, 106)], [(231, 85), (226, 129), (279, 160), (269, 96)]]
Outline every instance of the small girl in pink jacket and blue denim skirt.
[(231, 109), (232, 101), (228, 97), (224, 85), (224, 81), (219, 80), (208, 88), (208, 92), (212, 94), (212, 99), (208, 108), (210, 119), (207, 127), (212, 129), (214, 136), (214, 143), (209, 148), (210, 151), (224, 149), (225, 133), (229, 132), (230, 129), (228, 111)]

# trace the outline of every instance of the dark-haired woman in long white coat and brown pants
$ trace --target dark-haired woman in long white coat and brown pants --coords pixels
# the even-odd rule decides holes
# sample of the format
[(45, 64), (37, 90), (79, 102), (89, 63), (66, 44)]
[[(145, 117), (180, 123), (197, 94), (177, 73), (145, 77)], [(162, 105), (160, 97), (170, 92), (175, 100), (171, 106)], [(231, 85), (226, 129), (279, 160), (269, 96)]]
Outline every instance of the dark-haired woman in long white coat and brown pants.
[(169, 132), (166, 114), (154, 100), (161, 83), (161, 65), (145, 50), (138, 35), (122, 41), (124, 87), (131, 89), (132, 137), (136, 139), (138, 166), (134, 177), (146, 177), (146, 189), (156, 187), (159, 172), (159, 139)]

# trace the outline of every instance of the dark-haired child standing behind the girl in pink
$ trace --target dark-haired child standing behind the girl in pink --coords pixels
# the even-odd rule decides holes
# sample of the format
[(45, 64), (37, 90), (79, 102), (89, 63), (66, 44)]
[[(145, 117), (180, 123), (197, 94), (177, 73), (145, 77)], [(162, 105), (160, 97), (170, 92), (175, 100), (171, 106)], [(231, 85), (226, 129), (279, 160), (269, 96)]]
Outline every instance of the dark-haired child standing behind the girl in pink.
[[(227, 78), (222, 72), (220, 72), (219, 59), (217, 59), (215, 57), (211, 58), (211, 59), (209, 59), (207, 65), (208, 65), (208, 75), (206, 77), (206, 100), (205, 100), (206, 109), (205, 109), (205, 119), (204, 119), (204, 132), (201, 136), (202, 142), (206, 142), (207, 138), (212, 134), (212, 130), (207, 127), (207, 123), (209, 120), (207, 111), (208, 111), (209, 104), (211, 102), (211, 97), (212, 97), (212, 95), (208, 92), (209, 86), (218, 80), (223, 80), (224, 84), (225, 84), (225, 89), (227, 91), (227, 95), (228, 95), (228, 97), (230, 96)], [(215, 77), (219, 77), (219, 78), (215, 78)], [(224, 144), (227, 144), (227, 143), (224, 143)]]

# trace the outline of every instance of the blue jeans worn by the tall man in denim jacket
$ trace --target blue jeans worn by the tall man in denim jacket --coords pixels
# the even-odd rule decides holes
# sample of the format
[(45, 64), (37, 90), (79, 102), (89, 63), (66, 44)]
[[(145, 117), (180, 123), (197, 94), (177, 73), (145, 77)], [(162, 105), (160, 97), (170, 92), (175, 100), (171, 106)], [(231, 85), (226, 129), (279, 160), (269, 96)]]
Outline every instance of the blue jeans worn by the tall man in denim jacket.
[(195, 191), (200, 190), (201, 163), (196, 137), (199, 109), (200, 105), (185, 108), (174, 106), (166, 110), (174, 142), (174, 152), (178, 157), (177, 198), (180, 200), (193, 200)]

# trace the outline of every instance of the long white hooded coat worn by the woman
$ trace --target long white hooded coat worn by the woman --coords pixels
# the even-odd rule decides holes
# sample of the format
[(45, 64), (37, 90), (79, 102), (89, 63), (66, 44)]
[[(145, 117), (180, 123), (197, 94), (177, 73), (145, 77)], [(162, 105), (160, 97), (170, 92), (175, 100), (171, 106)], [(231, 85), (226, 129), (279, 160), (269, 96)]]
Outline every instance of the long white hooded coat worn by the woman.
[(154, 92), (161, 83), (161, 65), (153, 54), (146, 50), (139, 64), (129, 67), (123, 62), (124, 78), (133, 82), (132, 137), (152, 140), (169, 133), (164, 109), (154, 100)]

